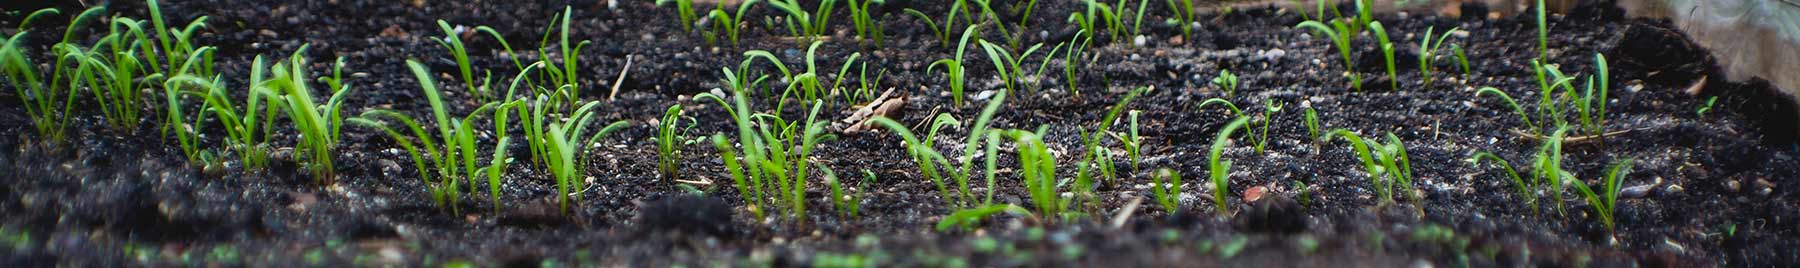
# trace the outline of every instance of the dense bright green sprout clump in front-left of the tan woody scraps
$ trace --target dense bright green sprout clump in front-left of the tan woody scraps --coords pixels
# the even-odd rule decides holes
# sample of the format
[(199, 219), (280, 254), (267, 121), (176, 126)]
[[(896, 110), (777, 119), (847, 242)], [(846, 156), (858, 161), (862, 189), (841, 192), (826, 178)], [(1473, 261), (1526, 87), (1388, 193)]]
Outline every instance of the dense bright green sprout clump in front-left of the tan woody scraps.
[[(727, 72), (729, 74), (729, 72)], [(713, 135), (725, 169), (731, 173), (738, 194), (743, 196), (751, 212), (763, 218), (765, 198), (774, 198), (772, 207), (779, 207), (792, 221), (806, 219), (806, 167), (812, 149), (823, 140), (833, 138), (824, 133), (824, 124), (817, 121), (824, 101), (814, 101), (805, 122), (788, 122), (776, 113), (754, 113), (747, 101), (747, 88), (733, 88), (727, 104), (725, 97), (700, 94), (695, 99), (713, 99), (731, 113), (738, 126), (736, 142), (742, 153), (733, 149), (733, 140), (724, 133)], [(752, 122), (754, 121), (754, 122)], [(742, 164), (738, 156), (742, 155)], [(769, 187), (772, 185), (772, 189)]]

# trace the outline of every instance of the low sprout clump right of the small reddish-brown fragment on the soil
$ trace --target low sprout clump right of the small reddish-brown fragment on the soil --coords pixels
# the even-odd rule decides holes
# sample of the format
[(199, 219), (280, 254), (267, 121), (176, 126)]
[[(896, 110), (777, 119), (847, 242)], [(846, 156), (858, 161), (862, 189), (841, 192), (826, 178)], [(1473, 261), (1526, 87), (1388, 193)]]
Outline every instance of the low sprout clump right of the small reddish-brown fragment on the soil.
[(1413, 164), (1406, 158), (1406, 144), (1399, 137), (1388, 133), (1388, 142), (1375, 142), (1350, 130), (1325, 133), (1327, 140), (1339, 137), (1350, 142), (1350, 149), (1363, 160), (1363, 167), (1370, 176), (1368, 183), (1381, 194), (1382, 205), (1393, 203), (1395, 185), (1399, 185), (1404, 196), (1413, 198)]

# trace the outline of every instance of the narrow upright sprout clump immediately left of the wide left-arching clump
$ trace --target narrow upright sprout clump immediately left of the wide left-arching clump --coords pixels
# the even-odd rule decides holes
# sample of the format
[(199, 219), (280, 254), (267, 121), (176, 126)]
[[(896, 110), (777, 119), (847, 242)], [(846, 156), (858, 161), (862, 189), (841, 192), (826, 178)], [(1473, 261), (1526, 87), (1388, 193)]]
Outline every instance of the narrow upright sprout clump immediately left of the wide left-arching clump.
[(288, 58), (288, 65), (275, 65), (275, 77), (265, 81), (265, 85), (268, 85), (270, 94), (279, 97), (275, 106), (281, 106), (288, 121), (293, 122), (293, 130), (301, 131), (299, 151), (295, 155), (301, 155), (301, 151), (308, 153), (302, 158), (306, 171), (311, 171), (313, 180), (329, 182), (335, 174), (331, 156), (337, 155), (337, 142), (344, 130), (344, 99), (351, 88), (342, 85), (344, 61), (337, 61), (337, 77), (331, 77), (335, 81), (331, 85), (337, 86), (328, 88), (331, 97), (324, 106), (315, 104), (313, 90), (306, 85), (311, 81), (306, 76), (306, 47), (302, 45)]

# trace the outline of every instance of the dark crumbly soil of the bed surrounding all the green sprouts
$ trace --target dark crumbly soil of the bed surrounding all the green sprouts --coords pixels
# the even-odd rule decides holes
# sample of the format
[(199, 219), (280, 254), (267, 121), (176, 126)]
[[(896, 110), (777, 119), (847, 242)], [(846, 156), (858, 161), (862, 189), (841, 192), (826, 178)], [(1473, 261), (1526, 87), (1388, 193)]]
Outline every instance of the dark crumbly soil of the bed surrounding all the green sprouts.
[[(434, 205), (403, 153), (387, 137), (346, 128), (338, 178), (320, 185), (290, 158), (275, 156), (270, 171), (203, 173), (189, 167), (173, 138), (157, 124), (110, 130), (92, 103), (77, 104), (72, 142), (43, 146), (32, 133), (14, 90), (0, 90), (0, 263), (5, 266), (806, 266), (832, 261), (871, 261), (880, 266), (1795, 266), (1800, 255), (1800, 162), (1795, 155), (1795, 106), (1766, 83), (1730, 83), (1703, 49), (1690, 45), (1669, 22), (1624, 18), (1616, 9), (1584, 7), (1552, 18), (1552, 61), (1568, 74), (1591, 74), (1595, 52), (1611, 59), (1613, 99), (1607, 128), (1631, 130), (1604, 144), (1568, 146), (1570, 171), (1595, 183), (1616, 158), (1634, 158), (1625, 187), (1651, 185), (1618, 205), (1616, 234), (1609, 234), (1573, 191), (1564, 212), (1544, 205), (1534, 214), (1516, 196), (1505, 174), (1465, 160), (1492, 151), (1514, 164), (1530, 158), (1539, 142), (1508, 130), (1525, 128), (1499, 101), (1476, 97), (1480, 86), (1535, 99), (1530, 59), (1537, 56), (1532, 18), (1438, 18), (1386, 14), (1402, 45), (1400, 85), (1390, 88), (1377, 54), (1363, 49), (1354, 67), (1368, 88), (1352, 90), (1339, 76), (1345, 67), (1330, 41), (1291, 25), (1294, 13), (1273, 7), (1208, 13), (1181, 38), (1166, 14), (1145, 20), (1143, 45), (1132, 38), (1094, 45), (1093, 63), (1080, 63), (1071, 92), (1060, 70), (1026, 85), (995, 115), (995, 128), (1049, 126), (1051, 149), (1073, 174), (1082, 128), (1093, 128), (1123, 92), (1156, 90), (1138, 99), (1147, 137), (1143, 171), (1118, 158), (1120, 180), (1098, 187), (1103, 200), (1085, 219), (1046, 223), (1039, 218), (1001, 216), (974, 232), (936, 232), (950, 209), (936, 187), (918, 174), (900, 138), (887, 133), (839, 133), (814, 160), (841, 174), (868, 169), (878, 180), (860, 185), (860, 218), (830, 210), (823, 182), (810, 183), (812, 214), (805, 223), (756, 219), (724, 176), (711, 146), (682, 149), (682, 176), (706, 196), (689, 196), (655, 165), (655, 124), (666, 106), (682, 103), (698, 117), (689, 135), (734, 130), (722, 108), (688, 101), (718, 88), (718, 68), (736, 67), (743, 50), (770, 50), (803, 65), (805, 47), (783, 29), (761, 23), (776, 16), (760, 5), (742, 47), (711, 47), (684, 32), (673, 9), (650, 0), (599, 2), (425, 2), (392, 0), (238, 2), (191, 0), (164, 4), (171, 22), (211, 16), (200, 43), (216, 45), (220, 70), (241, 85), (257, 54), (286, 58), (310, 45), (315, 72), (329, 59), (347, 58), (349, 113), (392, 108), (428, 112), (405, 59), (443, 72), (441, 85), (455, 113), (479, 106), (452, 79), (455, 63), (428, 38), (441, 36), (434, 20), (490, 25), (515, 47), (535, 47), (551, 14), (574, 9), (574, 40), (594, 41), (580, 54), (583, 97), (617, 99), (599, 108), (601, 121), (632, 121), (630, 130), (603, 138), (590, 151), (590, 180), (572, 214), (556, 210), (554, 182), (531, 164), (509, 169), (504, 209), (486, 198), (461, 200), (463, 210)], [(1055, 43), (1075, 36), (1064, 22), (1076, 2), (1042, 2), (1024, 43)], [(77, 4), (63, 4), (65, 13)], [(140, 2), (113, 4), (113, 11), (148, 18)], [(997, 9), (1010, 9), (1001, 4)], [(1161, 4), (1152, 4), (1161, 5)], [(833, 18), (832, 41), (821, 49), (821, 68), (862, 52), (873, 68), (886, 68), (884, 88), (909, 95), (902, 122), (922, 122), (936, 112), (974, 117), (979, 103), (954, 106), (940, 92), (947, 81), (925, 67), (949, 58), (931, 31), (904, 7), (941, 14), (947, 5), (927, 0), (889, 0), (893, 16), (886, 47), (859, 45), (848, 16)], [(700, 9), (711, 9), (704, 5)], [(1165, 9), (1152, 9), (1165, 11)], [(835, 13), (833, 16), (842, 16)], [(940, 18), (941, 20), (941, 18)], [(1017, 18), (1003, 18), (1015, 22)], [(7, 18), (13, 29), (18, 18)], [(56, 22), (56, 20), (50, 20)], [(67, 18), (61, 18), (67, 22)], [(43, 25), (40, 25), (43, 27)], [(1467, 47), (1472, 74), (1460, 76), (1440, 63), (1440, 79), (1422, 83), (1417, 34), (1462, 27), (1451, 38)], [(56, 27), (59, 29), (59, 25)], [(383, 34), (383, 31), (387, 34)], [(396, 32), (398, 31), (398, 32)], [(11, 32), (9, 32), (11, 34)], [(999, 40), (999, 36), (988, 36)], [(529, 41), (527, 41), (529, 40)], [(1102, 38), (1103, 41), (1107, 38)], [(1406, 40), (1406, 41), (1400, 41)], [(50, 40), (32, 40), (50, 41)], [(491, 40), (468, 38), (484, 68), (511, 72)], [(1373, 47), (1359, 38), (1357, 47)], [(47, 43), (41, 43), (47, 45)], [(1094, 58), (1098, 54), (1098, 58)], [(628, 79), (614, 85), (626, 58), (635, 59)], [(986, 56), (967, 56), (970, 95), (1004, 90)], [(1026, 63), (1037, 63), (1037, 56)], [(1060, 59), (1051, 61), (1060, 63)], [(1060, 65), (1053, 65), (1060, 67)], [(803, 67), (797, 67), (803, 68)], [(1273, 117), (1265, 153), (1247, 142), (1226, 151), (1233, 160), (1231, 216), (1213, 216), (1206, 174), (1211, 137), (1231, 117), (1217, 108), (1197, 110), (1208, 97), (1226, 97), (1208, 85), (1229, 68), (1244, 81), (1233, 103), (1258, 110), (1264, 101), (1285, 103)], [(495, 74), (500, 76), (500, 74)], [(509, 74), (506, 76), (509, 77)], [(1699, 95), (1687, 90), (1706, 81)], [(1714, 112), (1696, 108), (1717, 95)], [(770, 106), (770, 104), (760, 104)], [(1319, 112), (1325, 128), (1346, 128), (1366, 137), (1393, 133), (1406, 140), (1422, 198), (1382, 205), (1345, 142), (1312, 142), (1301, 110)], [(146, 110), (149, 112), (149, 110)], [(788, 112), (799, 113), (799, 112)], [(146, 113), (149, 115), (149, 113)], [(833, 106), (821, 117), (848, 117)], [(148, 119), (153, 121), (155, 117)], [(835, 131), (835, 130), (833, 130)], [(277, 133), (297, 133), (277, 130)], [(963, 130), (943, 140), (956, 144)], [(292, 138), (274, 138), (290, 147)], [(211, 142), (216, 140), (209, 140)], [(484, 142), (493, 142), (486, 138)], [(1111, 142), (1109, 142), (1111, 144)], [(515, 155), (524, 155), (522, 146)], [(945, 149), (950, 151), (950, 149)], [(1003, 147), (1003, 167), (1015, 167)], [(1148, 200), (1148, 169), (1170, 167), (1188, 178), (1184, 209), (1165, 214)], [(857, 176), (860, 178), (860, 176)], [(999, 174), (995, 201), (1028, 205), (1013, 169)], [(1296, 182), (1305, 183), (1298, 189)], [(1267, 191), (1244, 201), (1253, 187)], [(479, 194), (477, 194), (479, 196)], [(1143, 198), (1141, 205), (1134, 200)], [(1552, 201), (1552, 200), (1543, 200)], [(1136, 209), (1130, 209), (1136, 207)], [(1129, 214), (1112, 225), (1116, 214)]]

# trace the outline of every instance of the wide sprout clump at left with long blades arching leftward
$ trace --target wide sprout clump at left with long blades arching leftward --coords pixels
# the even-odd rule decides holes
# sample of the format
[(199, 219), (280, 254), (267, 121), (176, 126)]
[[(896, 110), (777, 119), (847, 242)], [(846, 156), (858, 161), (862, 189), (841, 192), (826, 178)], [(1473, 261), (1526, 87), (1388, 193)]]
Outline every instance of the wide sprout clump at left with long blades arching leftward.
[[(479, 173), (482, 167), (477, 167), (475, 164), (475, 156), (481, 151), (475, 146), (475, 117), (481, 117), (482, 113), (495, 113), (495, 126), (504, 130), (506, 108), (499, 108), (499, 103), (488, 103), (463, 119), (454, 119), (443, 103), (437, 83), (432, 79), (425, 65), (407, 59), (407, 67), (412, 70), (414, 77), (419, 79), (419, 88), (425, 92), (425, 99), (432, 106), (432, 119), (437, 126), (436, 133), (425, 130), (416, 119), (412, 119), (412, 115), (392, 110), (369, 110), (358, 117), (346, 119), (346, 122), (378, 130), (400, 144), (400, 147), (412, 158), (412, 164), (419, 173), (419, 180), (427, 183), (427, 192), (430, 192), (432, 201), (450, 207), (452, 212), (461, 210), (459, 201), (464, 191), (463, 183), (468, 182), (468, 187), (472, 189), (477, 176), (490, 176), (490, 183), (493, 183), (495, 178), (488, 173), (499, 171), (490, 164), (490, 169), (486, 169), (488, 173)], [(391, 126), (389, 122), (398, 122), (398, 126)], [(418, 140), (418, 144), (414, 144), (414, 140)], [(502, 146), (495, 147), (495, 151), (502, 151), (504, 144), (511, 142), (508, 138), (500, 140)], [(558, 174), (558, 180), (562, 180), (562, 174)], [(490, 185), (490, 189), (497, 187)], [(495, 198), (493, 203), (499, 207), (499, 196), (495, 194), (491, 198)]]

